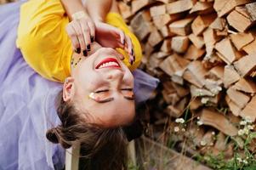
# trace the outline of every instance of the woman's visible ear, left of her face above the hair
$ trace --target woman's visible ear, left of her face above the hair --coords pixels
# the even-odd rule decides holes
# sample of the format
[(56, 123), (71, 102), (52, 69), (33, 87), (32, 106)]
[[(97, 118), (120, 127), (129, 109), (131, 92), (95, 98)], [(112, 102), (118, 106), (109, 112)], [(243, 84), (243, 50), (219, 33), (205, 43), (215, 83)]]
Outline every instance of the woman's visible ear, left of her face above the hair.
[(75, 86), (74, 86), (74, 78), (73, 77), (67, 77), (65, 79), (65, 82), (63, 84), (63, 100), (70, 101), (73, 99), (75, 94)]

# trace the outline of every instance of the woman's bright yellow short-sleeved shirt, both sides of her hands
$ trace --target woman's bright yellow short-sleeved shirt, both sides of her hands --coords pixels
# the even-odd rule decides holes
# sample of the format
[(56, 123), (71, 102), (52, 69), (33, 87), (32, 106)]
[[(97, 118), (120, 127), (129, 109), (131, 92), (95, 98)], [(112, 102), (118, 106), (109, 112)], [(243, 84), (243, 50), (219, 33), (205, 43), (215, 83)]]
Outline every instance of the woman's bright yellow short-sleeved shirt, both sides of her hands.
[[(128, 54), (121, 48), (117, 51), (125, 56), (123, 62), (130, 70), (139, 66), (141, 48), (138, 39), (117, 13), (109, 13), (106, 23), (120, 28), (134, 45), (135, 62), (130, 65)], [(24, 59), (37, 73), (51, 81), (64, 82), (71, 75), (71, 40), (65, 26), (69, 19), (60, 0), (33, 0), (20, 8), (17, 47)]]

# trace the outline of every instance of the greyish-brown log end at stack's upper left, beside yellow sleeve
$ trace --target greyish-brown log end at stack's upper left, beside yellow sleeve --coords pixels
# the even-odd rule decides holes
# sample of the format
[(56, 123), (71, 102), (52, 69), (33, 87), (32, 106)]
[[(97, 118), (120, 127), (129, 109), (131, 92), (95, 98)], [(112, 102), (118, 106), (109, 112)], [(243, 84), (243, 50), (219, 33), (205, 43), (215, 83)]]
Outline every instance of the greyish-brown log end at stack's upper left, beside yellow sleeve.
[(143, 11), (136, 14), (134, 19), (131, 20), (130, 26), (140, 41), (143, 41), (154, 28), (151, 23), (150, 13), (148, 11)]

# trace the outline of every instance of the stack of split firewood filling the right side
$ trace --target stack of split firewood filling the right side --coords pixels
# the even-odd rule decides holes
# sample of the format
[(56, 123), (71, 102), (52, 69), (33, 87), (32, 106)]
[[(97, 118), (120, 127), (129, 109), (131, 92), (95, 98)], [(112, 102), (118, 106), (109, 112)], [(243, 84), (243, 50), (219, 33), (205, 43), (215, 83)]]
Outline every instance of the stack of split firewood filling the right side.
[(118, 6), (142, 44), (145, 71), (162, 81), (167, 106), (159, 109), (167, 116), (189, 109), (211, 127), (189, 131), (197, 141), (215, 142), (216, 150), (225, 135), (237, 135), (242, 118), (255, 121), (255, 0), (123, 0)]

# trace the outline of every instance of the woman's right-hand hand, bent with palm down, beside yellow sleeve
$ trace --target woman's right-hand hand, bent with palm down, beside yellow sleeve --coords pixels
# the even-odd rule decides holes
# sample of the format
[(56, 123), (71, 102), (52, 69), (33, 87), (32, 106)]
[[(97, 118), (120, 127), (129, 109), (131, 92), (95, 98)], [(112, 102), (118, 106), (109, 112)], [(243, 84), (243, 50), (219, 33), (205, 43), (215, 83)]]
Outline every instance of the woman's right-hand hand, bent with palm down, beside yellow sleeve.
[(95, 22), (96, 42), (106, 48), (122, 48), (126, 50), (130, 56), (130, 64), (134, 63), (134, 47), (130, 37), (115, 26), (105, 24), (103, 22)]

